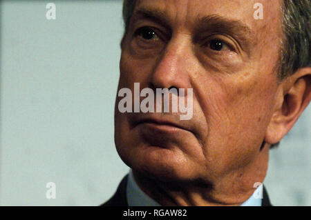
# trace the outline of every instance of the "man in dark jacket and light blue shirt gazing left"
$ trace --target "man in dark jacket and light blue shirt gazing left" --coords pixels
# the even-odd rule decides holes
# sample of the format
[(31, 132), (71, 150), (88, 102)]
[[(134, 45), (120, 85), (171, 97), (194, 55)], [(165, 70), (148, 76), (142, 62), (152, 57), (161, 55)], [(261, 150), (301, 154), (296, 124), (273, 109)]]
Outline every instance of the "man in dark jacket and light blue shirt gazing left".
[(118, 89), (191, 89), (193, 117), (120, 112), (118, 96), (115, 146), (132, 170), (104, 206), (270, 206), (270, 147), (311, 99), (310, 11), (308, 0), (124, 1)]

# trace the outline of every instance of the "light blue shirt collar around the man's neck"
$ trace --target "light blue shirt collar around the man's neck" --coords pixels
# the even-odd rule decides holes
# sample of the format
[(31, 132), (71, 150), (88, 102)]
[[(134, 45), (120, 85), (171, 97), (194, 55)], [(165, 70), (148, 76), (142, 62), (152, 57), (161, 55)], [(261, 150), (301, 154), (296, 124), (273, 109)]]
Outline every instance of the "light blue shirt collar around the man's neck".
[[(258, 186), (252, 196), (241, 206), (261, 206), (262, 195), (263, 184)], [(126, 184), (126, 198), (129, 206), (161, 206), (139, 188), (133, 177), (132, 170), (129, 172), (129, 179)]]

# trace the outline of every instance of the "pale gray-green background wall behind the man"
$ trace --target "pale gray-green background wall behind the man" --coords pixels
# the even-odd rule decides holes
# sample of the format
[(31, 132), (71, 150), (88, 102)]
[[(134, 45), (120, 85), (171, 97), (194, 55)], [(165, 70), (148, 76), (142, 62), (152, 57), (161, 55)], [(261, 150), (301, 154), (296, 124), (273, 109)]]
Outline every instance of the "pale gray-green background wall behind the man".
[[(1, 1), (1, 206), (97, 206), (129, 170), (113, 142), (122, 1)], [(311, 110), (265, 181), (272, 203), (311, 205)], [(56, 199), (46, 199), (46, 183)]]

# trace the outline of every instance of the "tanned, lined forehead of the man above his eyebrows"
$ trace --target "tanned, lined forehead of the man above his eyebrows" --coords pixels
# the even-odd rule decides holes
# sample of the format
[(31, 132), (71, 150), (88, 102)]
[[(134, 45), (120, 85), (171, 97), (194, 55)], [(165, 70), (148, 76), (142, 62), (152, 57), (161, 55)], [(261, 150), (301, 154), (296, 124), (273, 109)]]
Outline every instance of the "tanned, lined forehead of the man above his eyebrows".
[[(263, 19), (254, 19), (256, 3), (263, 6)], [(254, 34), (280, 34), (281, 3), (282, 0), (138, 0), (135, 11), (158, 12), (171, 28), (191, 28), (200, 18), (217, 15), (241, 21)]]

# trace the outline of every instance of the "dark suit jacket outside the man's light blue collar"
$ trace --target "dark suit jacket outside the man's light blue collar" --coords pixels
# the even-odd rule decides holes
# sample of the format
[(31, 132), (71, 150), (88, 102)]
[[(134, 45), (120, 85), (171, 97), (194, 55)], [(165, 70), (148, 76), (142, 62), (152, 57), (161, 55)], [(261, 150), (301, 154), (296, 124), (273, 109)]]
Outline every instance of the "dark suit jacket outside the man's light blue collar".
[[(127, 183), (128, 175), (126, 175), (120, 185), (117, 187), (117, 192), (109, 199), (109, 201), (106, 201), (101, 206), (129, 206), (126, 200), (126, 183)], [(261, 206), (272, 206), (270, 203), (270, 199), (267, 194), (267, 190), (265, 190), (265, 186), (263, 186), (263, 202)]]

